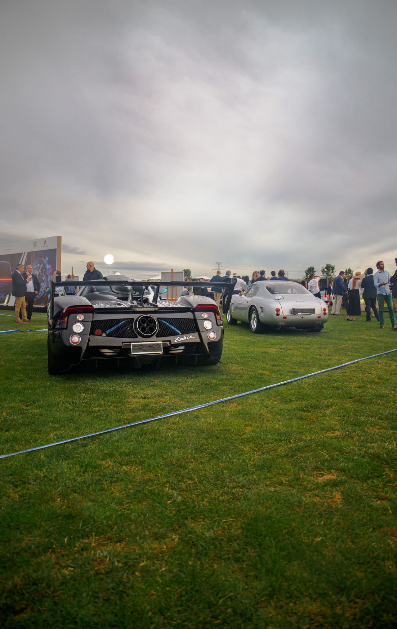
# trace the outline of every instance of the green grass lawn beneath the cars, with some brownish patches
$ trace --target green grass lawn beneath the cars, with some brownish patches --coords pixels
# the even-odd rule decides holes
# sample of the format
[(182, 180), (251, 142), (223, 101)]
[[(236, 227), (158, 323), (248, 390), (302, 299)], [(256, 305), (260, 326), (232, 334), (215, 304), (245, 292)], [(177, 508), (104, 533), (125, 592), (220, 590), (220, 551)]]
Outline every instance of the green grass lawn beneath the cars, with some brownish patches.
[[(319, 334), (226, 326), (215, 367), (57, 377), (45, 332), (0, 335), (0, 454), (395, 348), (385, 319), (330, 317)], [(15, 327), (46, 319), (0, 316)], [(0, 460), (0, 623), (396, 626), (396, 364), (397, 352)]]

